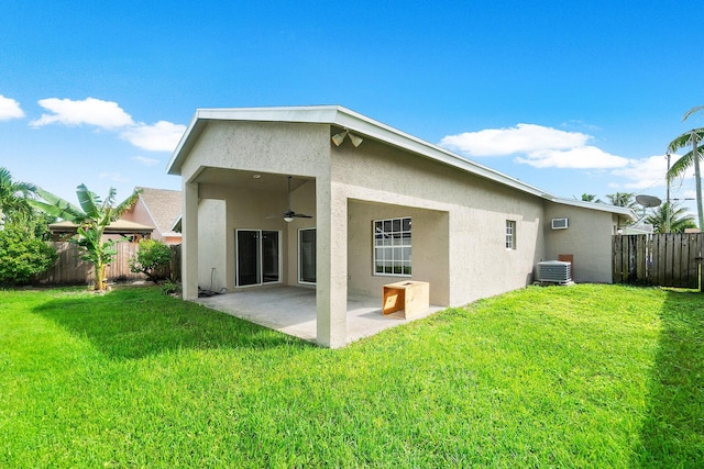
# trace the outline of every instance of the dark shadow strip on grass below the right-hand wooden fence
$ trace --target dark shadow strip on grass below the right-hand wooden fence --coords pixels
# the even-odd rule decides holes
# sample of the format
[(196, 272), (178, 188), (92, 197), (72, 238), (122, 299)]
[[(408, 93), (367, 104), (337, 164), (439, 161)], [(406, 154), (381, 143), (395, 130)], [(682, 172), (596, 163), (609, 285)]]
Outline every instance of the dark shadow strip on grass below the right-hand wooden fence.
[(704, 467), (704, 293), (668, 292), (640, 467)]

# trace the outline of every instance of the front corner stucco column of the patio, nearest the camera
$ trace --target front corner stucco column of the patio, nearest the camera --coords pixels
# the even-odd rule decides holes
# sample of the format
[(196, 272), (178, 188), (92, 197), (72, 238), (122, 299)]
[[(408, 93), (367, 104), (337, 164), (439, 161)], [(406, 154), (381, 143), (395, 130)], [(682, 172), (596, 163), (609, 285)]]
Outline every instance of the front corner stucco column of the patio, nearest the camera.
[(336, 186), (316, 178), (317, 342), (330, 348), (348, 342), (348, 200)]

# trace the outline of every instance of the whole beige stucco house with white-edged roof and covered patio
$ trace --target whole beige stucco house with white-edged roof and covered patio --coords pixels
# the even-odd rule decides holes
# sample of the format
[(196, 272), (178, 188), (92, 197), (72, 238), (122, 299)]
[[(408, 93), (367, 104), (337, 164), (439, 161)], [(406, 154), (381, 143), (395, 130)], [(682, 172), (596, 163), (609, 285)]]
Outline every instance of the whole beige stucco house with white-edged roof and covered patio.
[(575, 281), (610, 282), (612, 235), (632, 216), (336, 105), (198, 110), (167, 170), (182, 177), (184, 298), (212, 279), (315, 287), (328, 347), (346, 344), (349, 292), (381, 304), (385, 284), (418, 280), (431, 304), (459, 306), (560, 256)]

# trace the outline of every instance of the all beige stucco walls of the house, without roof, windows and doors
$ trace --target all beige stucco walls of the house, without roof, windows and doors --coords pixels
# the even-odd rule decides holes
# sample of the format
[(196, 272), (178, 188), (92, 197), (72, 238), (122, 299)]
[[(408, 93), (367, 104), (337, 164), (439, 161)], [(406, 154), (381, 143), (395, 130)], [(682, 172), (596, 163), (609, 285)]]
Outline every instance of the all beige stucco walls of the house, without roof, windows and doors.
[[(372, 266), (372, 222), (399, 216), (413, 220), (411, 279), (430, 282), (433, 304), (522, 288), (539, 260), (559, 254), (574, 256), (575, 280), (610, 281), (609, 212), (547, 202), (372, 137), (337, 147), (330, 136), (340, 129), (329, 124), (210, 121), (198, 132), (179, 169), (186, 299), (210, 286), (213, 266), (218, 288), (234, 288), (238, 228), (280, 231), (282, 282), (298, 284), (298, 230), (315, 226), (318, 343), (343, 346), (348, 291), (381, 297), (383, 284), (403, 279), (375, 276)], [(282, 213), (286, 192), (238, 187), (241, 171), (305, 180), (292, 206), (315, 219), (266, 219)], [(570, 230), (550, 230), (552, 217), (569, 217)], [(516, 223), (514, 249), (505, 246), (507, 221)]]

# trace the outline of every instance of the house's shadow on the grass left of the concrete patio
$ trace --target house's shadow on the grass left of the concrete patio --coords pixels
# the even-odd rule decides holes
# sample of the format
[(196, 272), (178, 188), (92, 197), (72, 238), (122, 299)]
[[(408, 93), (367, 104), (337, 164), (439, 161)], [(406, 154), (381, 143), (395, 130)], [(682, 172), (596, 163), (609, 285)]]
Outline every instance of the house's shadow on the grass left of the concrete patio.
[(57, 292), (34, 312), (86, 337), (114, 359), (167, 350), (213, 348), (305, 348), (283, 333), (164, 295), (157, 288), (125, 288), (106, 294)]

